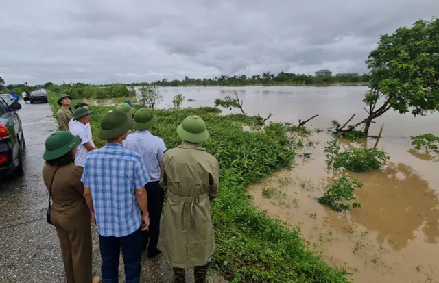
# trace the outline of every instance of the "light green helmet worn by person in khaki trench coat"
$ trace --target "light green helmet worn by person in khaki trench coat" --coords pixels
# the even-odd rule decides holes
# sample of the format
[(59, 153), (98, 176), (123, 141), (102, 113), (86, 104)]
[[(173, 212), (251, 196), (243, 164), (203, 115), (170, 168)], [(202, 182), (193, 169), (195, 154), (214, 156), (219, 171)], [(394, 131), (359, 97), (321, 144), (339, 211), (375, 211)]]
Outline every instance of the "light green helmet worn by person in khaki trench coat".
[(203, 143), (209, 139), (206, 124), (198, 116), (187, 116), (177, 127), (177, 134), (189, 143)]

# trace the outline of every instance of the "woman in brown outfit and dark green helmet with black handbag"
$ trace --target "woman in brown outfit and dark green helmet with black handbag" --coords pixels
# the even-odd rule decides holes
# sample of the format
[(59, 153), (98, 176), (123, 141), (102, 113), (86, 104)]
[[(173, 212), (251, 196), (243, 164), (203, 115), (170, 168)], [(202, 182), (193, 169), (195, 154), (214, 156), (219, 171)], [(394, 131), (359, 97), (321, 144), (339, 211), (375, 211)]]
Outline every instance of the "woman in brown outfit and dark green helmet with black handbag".
[(91, 273), (91, 213), (84, 199), (83, 169), (74, 163), (80, 143), (78, 136), (65, 131), (51, 134), (45, 142), (47, 223), (53, 224), (58, 233), (67, 283), (98, 283), (100, 277), (92, 278)]

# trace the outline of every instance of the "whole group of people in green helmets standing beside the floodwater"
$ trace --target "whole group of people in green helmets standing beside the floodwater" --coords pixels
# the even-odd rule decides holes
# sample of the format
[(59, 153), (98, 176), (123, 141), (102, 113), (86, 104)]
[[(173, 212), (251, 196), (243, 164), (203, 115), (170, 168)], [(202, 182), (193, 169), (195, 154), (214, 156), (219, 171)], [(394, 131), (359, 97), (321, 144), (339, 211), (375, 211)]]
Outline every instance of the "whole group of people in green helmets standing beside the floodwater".
[(204, 121), (184, 119), (176, 129), (182, 143), (167, 150), (150, 132), (156, 114), (123, 103), (102, 116), (98, 138), (106, 145), (97, 149), (88, 106), (80, 103), (73, 112), (68, 95), (58, 104), (59, 127), (45, 142), (43, 180), (67, 282), (101, 280), (91, 271), (91, 222), (99, 234), (104, 283), (118, 282), (120, 251), (127, 283), (140, 282), (143, 251), (169, 260), (173, 282), (185, 282), (187, 268), (194, 269), (195, 282), (212, 282), (211, 201), (219, 164), (200, 145), (209, 138)]

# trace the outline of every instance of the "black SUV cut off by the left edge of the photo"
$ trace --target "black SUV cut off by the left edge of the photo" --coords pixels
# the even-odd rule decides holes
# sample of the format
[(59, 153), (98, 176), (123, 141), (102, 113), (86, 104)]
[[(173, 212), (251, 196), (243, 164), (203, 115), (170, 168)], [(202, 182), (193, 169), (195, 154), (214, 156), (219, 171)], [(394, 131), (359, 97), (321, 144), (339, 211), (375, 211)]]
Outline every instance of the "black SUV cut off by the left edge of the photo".
[(25, 137), (21, 119), (16, 114), (20, 108), (19, 103), (8, 106), (0, 97), (0, 178), (23, 175)]

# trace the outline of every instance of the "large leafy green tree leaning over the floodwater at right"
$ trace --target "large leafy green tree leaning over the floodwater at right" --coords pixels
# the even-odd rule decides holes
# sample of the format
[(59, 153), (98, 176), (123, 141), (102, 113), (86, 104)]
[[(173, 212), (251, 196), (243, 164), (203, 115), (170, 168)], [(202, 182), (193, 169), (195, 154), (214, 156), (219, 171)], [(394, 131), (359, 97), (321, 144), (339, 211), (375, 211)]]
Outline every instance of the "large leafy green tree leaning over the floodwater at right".
[(391, 109), (400, 114), (411, 111), (414, 116), (439, 110), (439, 19), (419, 20), (412, 27), (381, 36), (366, 63), (370, 91), (363, 101), (368, 117), (346, 128), (337, 127), (337, 132), (364, 124), (367, 135), (370, 123)]

